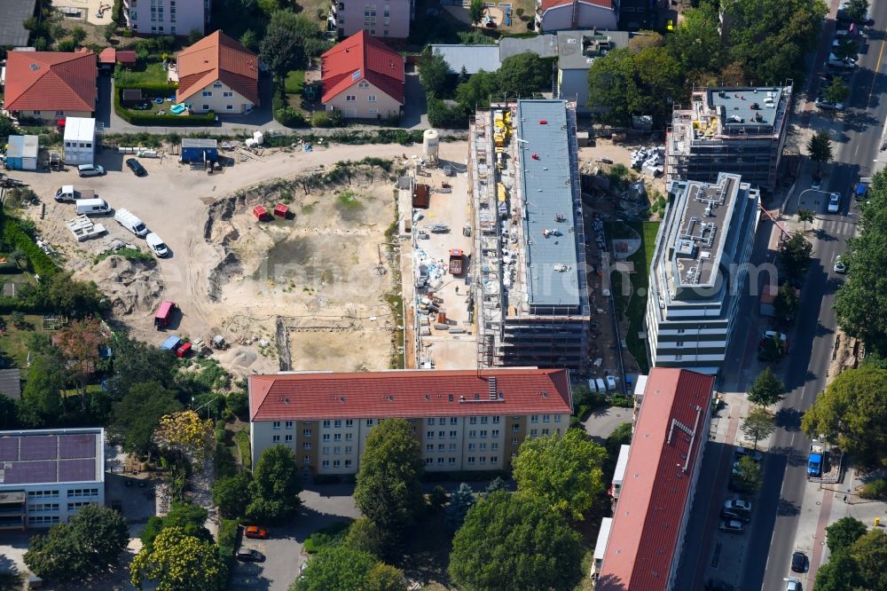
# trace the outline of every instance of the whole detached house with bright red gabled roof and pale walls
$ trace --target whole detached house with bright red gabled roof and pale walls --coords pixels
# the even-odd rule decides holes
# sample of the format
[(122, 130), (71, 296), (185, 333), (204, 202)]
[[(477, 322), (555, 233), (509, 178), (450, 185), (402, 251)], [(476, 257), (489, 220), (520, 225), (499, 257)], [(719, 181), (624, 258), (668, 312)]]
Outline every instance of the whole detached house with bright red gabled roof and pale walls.
[(346, 117), (375, 119), (404, 106), (404, 58), (360, 31), (320, 57), (321, 102)]

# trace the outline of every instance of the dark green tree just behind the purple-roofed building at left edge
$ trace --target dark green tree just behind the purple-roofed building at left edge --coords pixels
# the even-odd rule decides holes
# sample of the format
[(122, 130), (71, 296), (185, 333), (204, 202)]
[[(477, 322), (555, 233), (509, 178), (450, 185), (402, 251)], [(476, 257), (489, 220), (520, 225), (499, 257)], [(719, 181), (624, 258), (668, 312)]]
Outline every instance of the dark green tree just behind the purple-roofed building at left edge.
[(27, 427), (48, 427), (59, 420), (63, 401), (61, 389), (65, 378), (58, 355), (37, 355), (27, 368), (27, 380), (21, 390), (20, 421)]

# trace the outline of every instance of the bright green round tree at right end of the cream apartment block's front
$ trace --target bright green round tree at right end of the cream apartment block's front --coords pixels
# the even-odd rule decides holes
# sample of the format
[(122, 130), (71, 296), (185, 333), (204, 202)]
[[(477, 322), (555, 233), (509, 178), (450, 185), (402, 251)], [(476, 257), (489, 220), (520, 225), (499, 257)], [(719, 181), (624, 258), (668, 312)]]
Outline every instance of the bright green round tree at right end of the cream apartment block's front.
[(582, 519), (604, 490), (601, 466), (607, 450), (578, 429), (563, 436), (524, 440), (514, 460), (517, 490)]

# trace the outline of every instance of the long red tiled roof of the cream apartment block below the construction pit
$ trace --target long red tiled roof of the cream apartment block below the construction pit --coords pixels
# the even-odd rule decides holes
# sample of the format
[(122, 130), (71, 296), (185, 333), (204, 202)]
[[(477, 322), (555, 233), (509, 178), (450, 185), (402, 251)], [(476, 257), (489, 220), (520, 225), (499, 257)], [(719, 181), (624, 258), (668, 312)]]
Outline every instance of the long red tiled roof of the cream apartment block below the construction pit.
[[(496, 378), (499, 395), (495, 401), (490, 396), (491, 377)], [(569, 376), (565, 369), (394, 370), (249, 376), (250, 421), (494, 413), (570, 414), (571, 407)]]

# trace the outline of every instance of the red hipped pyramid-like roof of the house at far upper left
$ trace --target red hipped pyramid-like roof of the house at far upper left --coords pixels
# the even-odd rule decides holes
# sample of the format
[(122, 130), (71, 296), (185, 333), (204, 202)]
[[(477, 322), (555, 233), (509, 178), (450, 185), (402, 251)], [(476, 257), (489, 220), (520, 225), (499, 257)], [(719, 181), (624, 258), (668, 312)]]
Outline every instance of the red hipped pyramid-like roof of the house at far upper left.
[(10, 111), (95, 111), (92, 51), (10, 51), (6, 108)]

